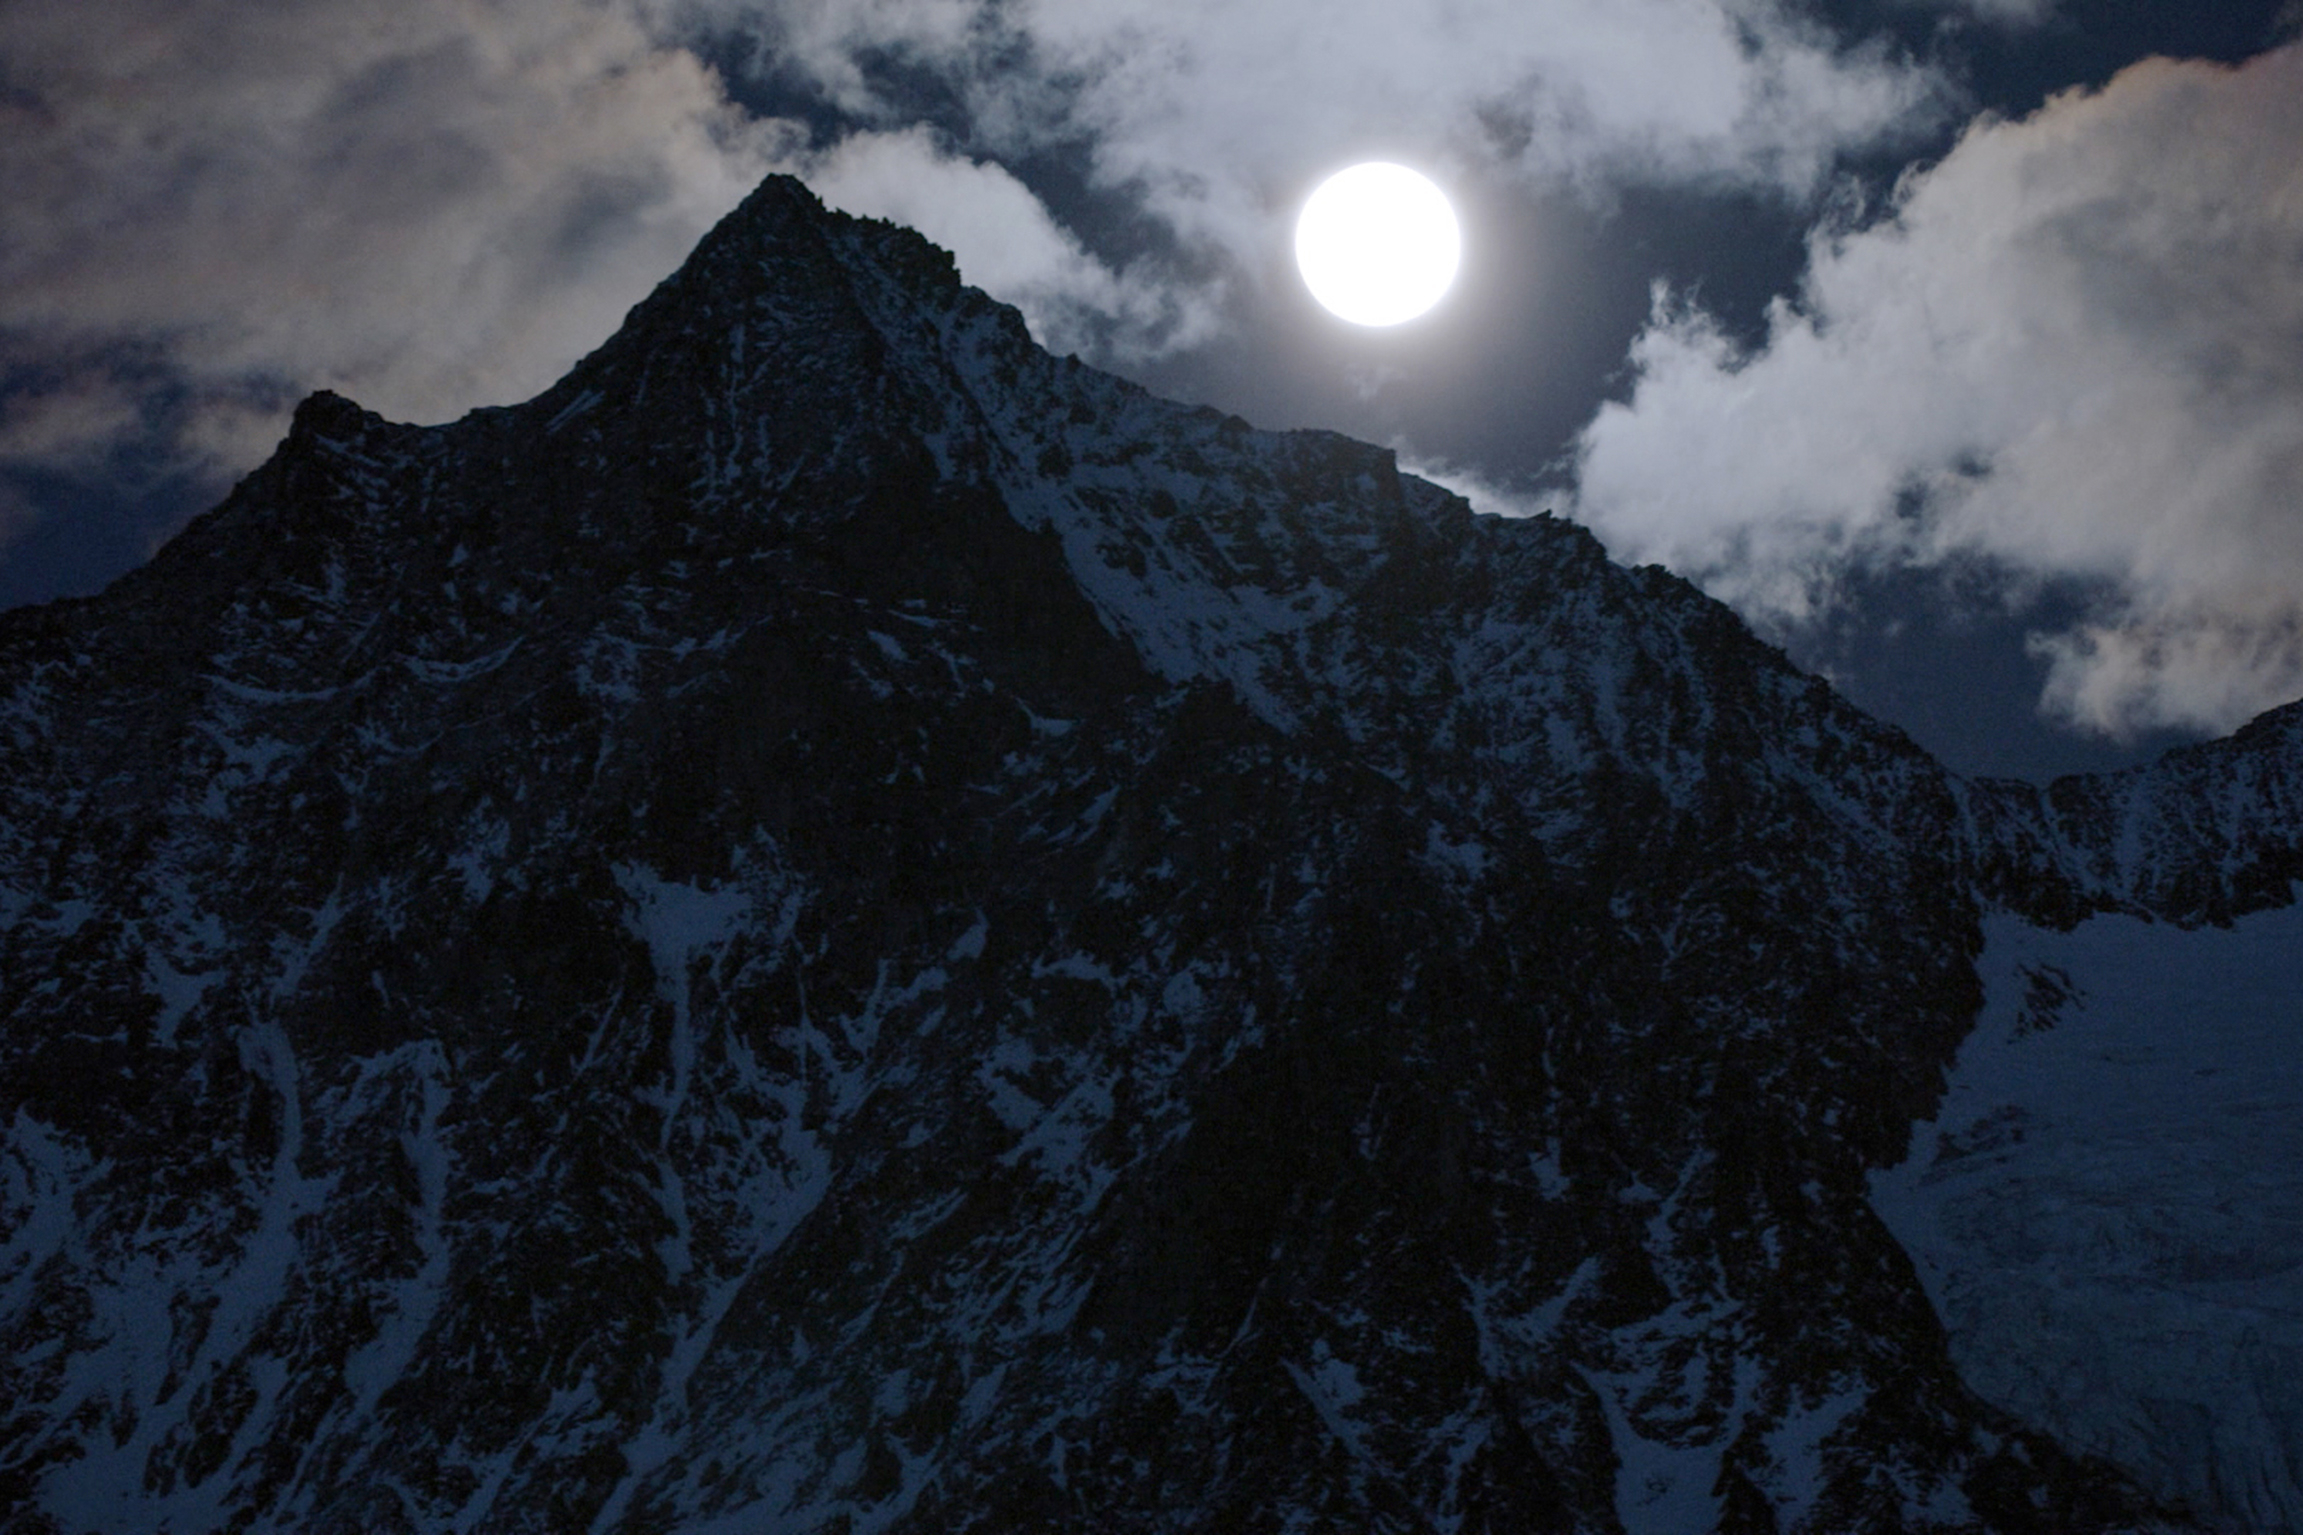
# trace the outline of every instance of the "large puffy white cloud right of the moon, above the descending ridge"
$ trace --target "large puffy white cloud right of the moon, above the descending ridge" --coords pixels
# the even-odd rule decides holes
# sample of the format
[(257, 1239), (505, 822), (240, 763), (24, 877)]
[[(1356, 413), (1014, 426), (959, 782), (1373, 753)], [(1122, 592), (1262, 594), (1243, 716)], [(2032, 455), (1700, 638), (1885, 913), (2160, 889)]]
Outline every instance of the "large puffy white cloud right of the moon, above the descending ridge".
[(1981, 122), (1882, 223), (1819, 235), (1739, 354), (1658, 301), (1582, 435), (1580, 516), (1750, 612), (1861, 562), (2103, 582), (2038, 642), (2093, 730), (2303, 693), (2303, 51), (2151, 60)]

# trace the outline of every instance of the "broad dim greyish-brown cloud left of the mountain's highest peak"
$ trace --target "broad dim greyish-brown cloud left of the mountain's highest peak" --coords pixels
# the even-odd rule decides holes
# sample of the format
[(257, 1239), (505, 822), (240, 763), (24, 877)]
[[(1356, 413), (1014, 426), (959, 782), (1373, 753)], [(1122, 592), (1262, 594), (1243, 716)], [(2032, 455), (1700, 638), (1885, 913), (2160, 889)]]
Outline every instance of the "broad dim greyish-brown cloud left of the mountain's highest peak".
[[(772, 163), (693, 55), (613, 5), (78, 0), (0, 53), (0, 453), (120, 433), (106, 354), (191, 391), (180, 453), (336, 387), (438, 419), (548, 384)], [(269, 389), (267, 389), (269, 387)], [(76, 405), (78, 400), (78, 405)], [(46, 426), (41, 426), (46, 423)]]

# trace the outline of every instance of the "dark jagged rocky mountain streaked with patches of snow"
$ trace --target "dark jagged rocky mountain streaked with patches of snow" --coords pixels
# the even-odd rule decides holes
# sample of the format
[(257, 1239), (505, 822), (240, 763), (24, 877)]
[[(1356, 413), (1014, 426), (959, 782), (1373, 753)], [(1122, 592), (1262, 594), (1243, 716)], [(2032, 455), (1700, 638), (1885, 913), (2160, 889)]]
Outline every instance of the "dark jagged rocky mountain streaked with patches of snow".
[(1962, 782), (776, 180), (0, 614), (5, 1528), (2192, 1528), (1870, 1181), (1987, 918), (2296, 875), (2296, 711)]

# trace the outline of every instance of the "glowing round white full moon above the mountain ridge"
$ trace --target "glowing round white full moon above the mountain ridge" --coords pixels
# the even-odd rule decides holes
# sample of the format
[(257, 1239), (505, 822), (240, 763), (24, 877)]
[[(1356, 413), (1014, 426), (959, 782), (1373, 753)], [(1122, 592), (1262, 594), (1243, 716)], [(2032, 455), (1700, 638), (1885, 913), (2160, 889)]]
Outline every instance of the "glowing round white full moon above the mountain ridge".
[(1338, 170), (1297, 219), (1303, 285), (1352, 324), (1414, 320), (1455, 281), (1458, 260), (1455, 209), (1407, 166)]

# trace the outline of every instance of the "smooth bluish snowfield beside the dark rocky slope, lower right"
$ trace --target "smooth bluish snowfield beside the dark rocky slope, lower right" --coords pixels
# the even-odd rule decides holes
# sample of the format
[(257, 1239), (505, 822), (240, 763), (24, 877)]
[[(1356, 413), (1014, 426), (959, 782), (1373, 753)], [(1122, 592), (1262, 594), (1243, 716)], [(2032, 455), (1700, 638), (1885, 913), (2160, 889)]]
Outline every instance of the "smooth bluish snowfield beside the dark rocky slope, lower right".
[(1985, 934), (1983, 1022), (1872, 1183), (1953, 1358), (2213, 1528), (2303, 1528), (2303, 909)]

